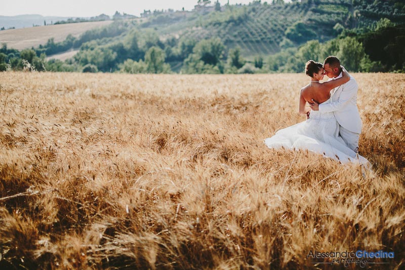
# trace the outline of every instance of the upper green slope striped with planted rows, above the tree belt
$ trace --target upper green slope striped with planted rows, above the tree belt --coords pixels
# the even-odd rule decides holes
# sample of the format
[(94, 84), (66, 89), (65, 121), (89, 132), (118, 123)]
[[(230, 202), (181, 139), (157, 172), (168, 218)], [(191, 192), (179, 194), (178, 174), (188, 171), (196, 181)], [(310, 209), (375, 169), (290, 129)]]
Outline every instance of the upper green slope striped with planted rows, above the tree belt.
[(403, 12), (387, 2), (303, 0), (269, 5), (253, 1), (249, 6), (225, 6), (221, 11), (209, 12), (207, 8), (191, 14), (158, 14), (141, 26), (165, 36), (220, 37), (228, 48), (240, 47), (245, 56), (268, 55), (308, 40), (331, 40), (340, 27), (368, 27), (382, 17), (403, 21)]

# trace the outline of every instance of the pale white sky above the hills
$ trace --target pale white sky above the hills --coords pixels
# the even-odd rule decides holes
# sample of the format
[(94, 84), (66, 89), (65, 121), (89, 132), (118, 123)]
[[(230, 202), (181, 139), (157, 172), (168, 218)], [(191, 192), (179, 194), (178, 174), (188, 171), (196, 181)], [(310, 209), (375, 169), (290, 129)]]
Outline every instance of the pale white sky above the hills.
[[(211, 0), (214, 3), (215, 0)], [(229, 4), (249, 4), (253, 0), (229, 0)], [(267, 0), (269, 3), (271, 0)], [(262, 0), (264, 3), (265, 0)], [(219, 0), (221, 5), (227, 0)], [(143, 10), (192, 10), (197, 0), (0, 0), (0, 16), (39, 14), (60, 17), (93, 17), (115, 11), (139, 16)]]

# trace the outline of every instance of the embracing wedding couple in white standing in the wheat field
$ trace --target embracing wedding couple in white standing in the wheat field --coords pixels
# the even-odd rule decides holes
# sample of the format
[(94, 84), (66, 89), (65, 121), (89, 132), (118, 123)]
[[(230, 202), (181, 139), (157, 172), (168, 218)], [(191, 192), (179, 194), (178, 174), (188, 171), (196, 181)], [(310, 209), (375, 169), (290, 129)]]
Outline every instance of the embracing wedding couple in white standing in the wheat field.
[[(358, 155), (362, 123), (356, 80), (336, 56), (327, 57), (323, 65), (309, 60), (305, 73), (310, 82), (300, 91), (299, 113), (307, 120), (277, 131), (264, 143), (269, 148), (307, 149), (342, 163), (368, 164)], [(321, 83), (324, 75), (329, 80)]]

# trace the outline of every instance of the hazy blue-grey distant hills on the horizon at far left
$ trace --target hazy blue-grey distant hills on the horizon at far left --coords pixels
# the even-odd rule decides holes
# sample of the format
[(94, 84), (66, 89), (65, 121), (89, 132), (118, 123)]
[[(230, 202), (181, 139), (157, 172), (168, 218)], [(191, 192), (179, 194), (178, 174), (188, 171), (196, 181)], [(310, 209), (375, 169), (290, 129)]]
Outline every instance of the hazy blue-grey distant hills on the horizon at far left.
[(55, 23), (57, 21), (67, 20), (70, 17), (42, 16), (37, 14), (18, 15), (18, 16), (0, 16), (0, 28), (9, 29), (32, 27), (33, 25), (44, 25)]

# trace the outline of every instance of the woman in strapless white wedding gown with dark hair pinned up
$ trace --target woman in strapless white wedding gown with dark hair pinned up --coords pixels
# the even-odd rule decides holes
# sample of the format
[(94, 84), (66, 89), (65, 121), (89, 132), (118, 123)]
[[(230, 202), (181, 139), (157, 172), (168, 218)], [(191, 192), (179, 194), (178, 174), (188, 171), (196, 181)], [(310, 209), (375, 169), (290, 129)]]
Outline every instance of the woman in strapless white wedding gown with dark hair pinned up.
[(325, 74), (323, 66), (321, 63), (309, 60), (305, 65), (305, 73), (311, 77), (311, 81), (301, 89), (299, 103), (299, 113), (306, 114), (308, 119), (277, 131), (274, 136), (265, 139), (264, 143), (269, 148), (308, 149), (342, 163), (368, 163), (367, 159), (347, 147), (339, 136), (339, 124), (333, 112), (314, 111), (305, 107), (306, 102), (312, 103), (312, 99), (319, 104), (330, 102), (330, 90), (350, 80), (346, 69), (342, 67), (342, 70), (341, 78), (320, 83)]

